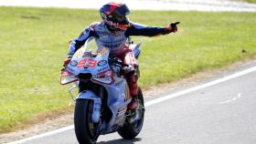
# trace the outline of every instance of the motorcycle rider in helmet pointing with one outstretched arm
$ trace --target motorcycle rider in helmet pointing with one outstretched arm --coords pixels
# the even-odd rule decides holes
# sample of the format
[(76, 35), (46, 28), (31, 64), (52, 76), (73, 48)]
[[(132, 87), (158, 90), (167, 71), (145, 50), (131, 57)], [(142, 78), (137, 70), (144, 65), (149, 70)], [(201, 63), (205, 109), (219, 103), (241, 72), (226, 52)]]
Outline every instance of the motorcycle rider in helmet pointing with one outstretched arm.
[(127, 83), (130, 88), (130, 94), (133, 97), (128, 108), (135, 109), (138, 107), (138, 62), (133, 56), (131, 47), (127, 44), (130, 36), (160, 36), (169, 33), (175, 33), (177, 27), (175, 24), (161, 26), (144, 26), (133, 23), (126, 15), (131, 14), (127, 5), (122, 3), (108, 3), (102, 5), (100, 9), (102, 21), (92, 23), (85, 28), (80, 36), (73, 39), (69, 44), (68, 58), (64, 61), (64, 66), (69, 64), (71, 57), (75, 52), (84, 45), (88, 38), (95, 38), (97, 45), (108, 47), (112, 51), (113, 57), (119, 57), (123, 61), (123, 66), (132, 67), (130, 71), (125, 72)]

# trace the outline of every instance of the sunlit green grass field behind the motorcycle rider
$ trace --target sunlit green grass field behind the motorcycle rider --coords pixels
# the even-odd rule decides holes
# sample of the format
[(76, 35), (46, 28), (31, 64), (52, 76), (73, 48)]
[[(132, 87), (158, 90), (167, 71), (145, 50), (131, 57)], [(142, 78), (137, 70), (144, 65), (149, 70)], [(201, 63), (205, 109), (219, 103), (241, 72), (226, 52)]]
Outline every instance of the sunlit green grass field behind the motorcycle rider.
[[(0, 7), (0, 15), (2, 133), (26, 126), (38, 115), (69, 108), (67, 87), (59, 85), (69, 39), (100, 16), (95, 10), (19, 7)], [(181, 21), (177, 34), (134, 37), (136, 42), (144, 41), (142, 87), (256, 55), (254, 13), (133, 11), (130, 18), (150, 26)]]

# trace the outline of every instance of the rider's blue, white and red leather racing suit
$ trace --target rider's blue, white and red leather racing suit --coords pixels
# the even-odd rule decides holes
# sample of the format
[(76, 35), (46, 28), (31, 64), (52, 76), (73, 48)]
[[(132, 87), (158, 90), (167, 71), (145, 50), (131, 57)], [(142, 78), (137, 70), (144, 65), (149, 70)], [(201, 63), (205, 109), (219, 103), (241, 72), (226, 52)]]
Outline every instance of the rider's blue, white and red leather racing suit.
[[(112, 31), (102, 22), (92, 23), (85, 28), (79, 37), (73, 39), (69, 44), (68, 58), (83, 46), (88, 38), (94, 37), (97, 45), (112, 48), (114, 57), (120, 57), (123, 64), (137, 67), (138, 62), (133, 56), (131, 48), (126, 41), (129, 36), (159, 36), (170, 33), (165, 27), (144, 26), (131, 22), (131, 26), (126, 30)], [(126, 77), (130, 87), (130, 94), (135, 97), (138, 95), (138, 85), (135, 72), (129, 73)]]

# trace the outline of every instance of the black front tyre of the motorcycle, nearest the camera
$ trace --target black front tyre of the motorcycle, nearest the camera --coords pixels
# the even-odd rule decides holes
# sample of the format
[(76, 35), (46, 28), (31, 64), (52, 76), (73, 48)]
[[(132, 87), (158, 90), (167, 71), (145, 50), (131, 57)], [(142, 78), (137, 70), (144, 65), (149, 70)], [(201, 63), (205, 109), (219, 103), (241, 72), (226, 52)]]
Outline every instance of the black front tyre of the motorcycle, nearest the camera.
[(95, 144), (99, 137), (98, 125), (91, 121), (92, 108), (93, 102), (91, 100), (76, 100), (74, 126), (80, 144)]

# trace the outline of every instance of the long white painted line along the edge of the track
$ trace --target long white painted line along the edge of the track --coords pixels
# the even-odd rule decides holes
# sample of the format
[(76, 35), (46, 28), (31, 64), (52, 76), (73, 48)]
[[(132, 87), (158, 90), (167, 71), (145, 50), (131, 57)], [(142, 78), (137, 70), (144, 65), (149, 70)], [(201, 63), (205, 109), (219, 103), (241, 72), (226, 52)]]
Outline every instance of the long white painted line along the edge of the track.
[[(163, 97), (163, 98), (156, 98), (156, 99), (154, 99), (154, 100), (145, 102), (145, 107), (148, 107), (148, 106), (151, 106), (151, 105), (160, 103), (160, 102), (162, 102), (162, 101), (165, 101), (165, 100), (168, 100), (168, 99), (171, 99), (171, 98), (180, 97), (180, 96), (182, 96), (182, 95), (185, 95), (185, 94), (190, 93), (190, 92), (193, 92), (193, 91), (197, 91), (197, 90), (202, 89), (202, 88), (205, 88), (205, 87), (211, 87), (211, 86), (217, 85), (217, 84), (219, 84), (219, 83), (222, 83), (222, 82), (224, 82), (224, 81), (228, 81), (228, 80), (233, 79), (233, 78), (236, 78), (236, 77), (244, 76), (244, 75), (249, 74), (249, 73), (251, 73), (251, 72), (253, 72), (253, 71), (256, 71), (256, 67), (251, 67), (251, 68), (242, 70), (242, 71), (240, 71), (240, 72), (238, 72), (238, 73), (229, 75), (229, 76), (227, 76), (227, 77), (221, 77), (221, 78), (219, 78), (219, 79), (217, 79), (217, 80), (208, 82), (208, 83), (206, 83), (206, 84), (202, 84), (202, 85), (197, 86), (197, 87), (187, 88), (187, 89), (182, 90), (182, 91), (180, 91), (180, 92), (177, 92), (177, 93), (175, 93), (175, 94), (167, 95), (167, 96), (165, 96), (165, 97)], [(40, 135), (37, 135), (37, 136), (34, 136), (34, 137), (30, 137), (30, 138), (27, 138), (27, 139), (20, 139), (20, 140), (13, 141), (13, 142), (10, 142), (10, 143), (7, 143), (7, 144), (19, 144), (19, 143), (22, 143), (22, 142), (26, 142), (26, 141), (28, 141), (28, 140), (47, 137), (47, 136), (54, 135), (54, 134), (57, 134), (57, 133), (60, 133), (60, 132), (63, 132), (63, 131), (70, 130), (70, 129), (74, 129), (74, 126), (71, 125), (71, 126), (68, 126), (68, 127), (64, 127), (64, 128), (62, 128), (62, 129), (56, 129), (56, 130), (49, 131), (49, 132), (46, 132), (46, 133), (43, 133), (43, 134), (40, 134)]]

